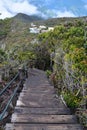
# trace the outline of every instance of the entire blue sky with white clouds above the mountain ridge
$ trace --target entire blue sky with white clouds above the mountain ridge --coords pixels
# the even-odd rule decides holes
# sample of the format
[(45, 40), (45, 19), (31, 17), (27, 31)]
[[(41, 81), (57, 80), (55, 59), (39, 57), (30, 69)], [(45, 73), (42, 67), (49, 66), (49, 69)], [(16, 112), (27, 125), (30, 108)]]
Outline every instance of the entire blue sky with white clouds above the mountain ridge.
[(87, 0), (0, 0), (0, 19), (17, 13), (45, 18), (87, 16)]

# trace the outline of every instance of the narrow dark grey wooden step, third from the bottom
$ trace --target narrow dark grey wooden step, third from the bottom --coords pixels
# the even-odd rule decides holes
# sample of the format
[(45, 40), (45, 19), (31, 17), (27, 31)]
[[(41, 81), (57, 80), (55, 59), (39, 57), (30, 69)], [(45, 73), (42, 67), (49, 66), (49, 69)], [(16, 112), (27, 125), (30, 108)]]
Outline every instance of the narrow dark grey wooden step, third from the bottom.
[(15, 107), (14, 113), (19, 114), (44, 114), (44, 115), (68, 115), (70, 110), (67, 108), (27, 108), (27, 107)]

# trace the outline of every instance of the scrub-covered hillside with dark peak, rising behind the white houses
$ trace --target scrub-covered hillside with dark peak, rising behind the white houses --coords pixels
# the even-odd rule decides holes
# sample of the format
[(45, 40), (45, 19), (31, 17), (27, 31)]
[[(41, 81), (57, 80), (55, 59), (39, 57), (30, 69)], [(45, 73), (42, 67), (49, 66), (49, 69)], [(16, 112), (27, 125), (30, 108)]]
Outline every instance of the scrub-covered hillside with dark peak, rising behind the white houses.
[(5, 47), (13, 44), (29, 43), (36, 34), (31, 34), (29, 28), (33, 22), (37, 26), (45, 25), (47, 27), (54, 27), (60, 24), (71, 22), (72, 24), (77, 20), (85, 20), (83, 18), (53, 18), (43, 20), (38, 16), (28, 16), (25, 14), (17, 14), (15, 17), (5, 20), (0, 20), (0, 46)]

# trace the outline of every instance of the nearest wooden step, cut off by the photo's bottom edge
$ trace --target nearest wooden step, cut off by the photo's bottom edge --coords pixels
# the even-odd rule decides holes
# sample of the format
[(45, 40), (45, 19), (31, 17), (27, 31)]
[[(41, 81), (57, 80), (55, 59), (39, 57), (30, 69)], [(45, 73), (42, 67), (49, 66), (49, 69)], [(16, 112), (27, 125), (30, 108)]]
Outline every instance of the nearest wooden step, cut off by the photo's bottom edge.
[(82, 130), (79, 124), (6, 124), (5, 130)]

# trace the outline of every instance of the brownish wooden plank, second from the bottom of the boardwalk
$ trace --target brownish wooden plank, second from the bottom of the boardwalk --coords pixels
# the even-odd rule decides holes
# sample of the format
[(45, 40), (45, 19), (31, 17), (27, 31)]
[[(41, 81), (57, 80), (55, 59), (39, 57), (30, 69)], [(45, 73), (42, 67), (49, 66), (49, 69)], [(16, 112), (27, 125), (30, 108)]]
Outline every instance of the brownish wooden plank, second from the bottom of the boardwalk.
[(76, 123), (77, 119), (74, 115), (27, 115), (12, 114), (11, 122), (14, 123)]

